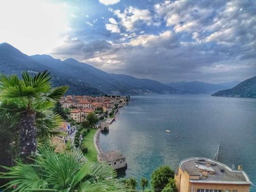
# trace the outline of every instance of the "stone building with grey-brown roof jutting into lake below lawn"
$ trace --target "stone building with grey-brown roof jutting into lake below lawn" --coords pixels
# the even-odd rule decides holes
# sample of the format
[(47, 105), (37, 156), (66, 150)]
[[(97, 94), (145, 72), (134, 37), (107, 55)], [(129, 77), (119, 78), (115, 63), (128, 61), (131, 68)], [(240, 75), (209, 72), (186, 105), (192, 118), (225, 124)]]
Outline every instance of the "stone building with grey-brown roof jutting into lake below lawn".
[(115, 169), (127, 167), (125, 157), (118, 151), (104, 152), (98, 154), (98, 161), (107, 163)]

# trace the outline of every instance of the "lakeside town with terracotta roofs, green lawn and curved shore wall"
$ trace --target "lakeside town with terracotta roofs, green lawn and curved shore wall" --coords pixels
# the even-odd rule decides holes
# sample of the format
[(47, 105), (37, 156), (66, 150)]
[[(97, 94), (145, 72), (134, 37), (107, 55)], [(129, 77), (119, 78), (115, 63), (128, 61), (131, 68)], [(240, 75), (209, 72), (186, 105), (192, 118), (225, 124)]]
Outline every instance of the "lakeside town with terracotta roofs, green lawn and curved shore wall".
[[(63, 152), (68, 147), (73, 147), (81, 150), (89, 160), (104, 162), (116, 169), (127, 167), (125, 157), (117, 150), (102, 151), (99, 134), (109, 131), (109, 125), (115, 121), (118, 109), (126, 105), (129, 100), (130, 96), (115, 95), (62, 97), (57, 104), (60, 105), (59, 110), (65, 114), (66, 120), (58, 127), (60, 134), (52, 140), (56, 146), (55, 151)], [(91, 144), (92, 139), (94, 146)]]

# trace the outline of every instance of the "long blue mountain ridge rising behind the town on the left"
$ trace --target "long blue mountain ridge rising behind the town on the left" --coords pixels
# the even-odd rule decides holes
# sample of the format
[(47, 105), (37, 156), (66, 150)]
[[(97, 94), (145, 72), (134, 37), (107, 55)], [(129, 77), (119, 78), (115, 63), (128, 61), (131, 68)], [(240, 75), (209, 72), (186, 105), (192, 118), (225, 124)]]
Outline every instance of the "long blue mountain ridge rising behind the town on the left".
[(70, 86), (68, 94), (153, 94), (176, 93), (158, 81), (110, 74), (73, 58), (61, 61), (50, 55), (23, 54), (11, 45), (0, 44), (0, 73), (21, 75), (48, 70), (54, 86)]

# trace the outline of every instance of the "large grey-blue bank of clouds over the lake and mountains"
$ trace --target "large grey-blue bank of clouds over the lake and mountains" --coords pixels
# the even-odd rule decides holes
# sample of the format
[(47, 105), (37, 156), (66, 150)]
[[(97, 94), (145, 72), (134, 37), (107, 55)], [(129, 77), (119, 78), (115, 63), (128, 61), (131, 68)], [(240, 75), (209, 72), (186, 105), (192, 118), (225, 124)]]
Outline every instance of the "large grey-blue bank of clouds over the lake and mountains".
[(165, 1), (154, 6), (149, 22), (161, 18), (164, 30), (124, 31), (121, 40), (86, 44), (68, 39), (52, 54), (163, 82), (242, 80), (256, 75), (255, 10), (256, 1)]

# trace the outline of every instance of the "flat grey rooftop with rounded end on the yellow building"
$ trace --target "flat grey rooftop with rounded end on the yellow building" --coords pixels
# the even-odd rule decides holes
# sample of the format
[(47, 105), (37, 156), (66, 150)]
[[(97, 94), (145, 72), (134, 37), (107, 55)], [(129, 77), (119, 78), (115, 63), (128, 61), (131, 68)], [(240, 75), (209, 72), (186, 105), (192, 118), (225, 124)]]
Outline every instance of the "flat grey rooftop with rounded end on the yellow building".
[[(209, 166), (207, 166), (207, 163)], [(199, 180), (190, 180), (191, 182), (204, 183), (233, 183), (233, 184), (251, 184), (248, 176), (243, 170), (232, 170), (227, 165), (218, 161), (206, 158), (188, 158), (180, 162), (180, 168), (187, 172), (189, 176), (200, 176)], [(208, 174), (205, 178), (199, 170), (205, 170), (213, 174)]]

